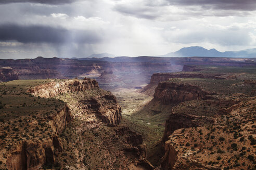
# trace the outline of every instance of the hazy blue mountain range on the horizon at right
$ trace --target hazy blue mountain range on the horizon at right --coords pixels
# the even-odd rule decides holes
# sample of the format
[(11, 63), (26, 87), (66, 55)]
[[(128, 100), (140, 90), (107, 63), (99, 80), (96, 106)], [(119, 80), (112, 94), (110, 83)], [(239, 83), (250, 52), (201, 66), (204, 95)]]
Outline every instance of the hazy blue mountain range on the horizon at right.
[(176, 52), (170, 52), (163, 57), (189, 57), (189, 56), (217, 56), (217, 57), (232, 57), (232, 58), (256, 58), (256, 48), (246, 49), (241, 51), (225, 51), (220, 52), (216, 49), (207, 50), (203, 47), (185, 47)]

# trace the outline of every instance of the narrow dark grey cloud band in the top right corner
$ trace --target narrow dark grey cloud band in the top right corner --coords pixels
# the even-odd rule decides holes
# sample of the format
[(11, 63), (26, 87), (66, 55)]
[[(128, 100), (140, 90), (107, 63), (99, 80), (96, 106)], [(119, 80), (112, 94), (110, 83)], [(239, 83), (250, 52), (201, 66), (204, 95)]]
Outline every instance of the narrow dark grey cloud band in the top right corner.
[(256, 10), (255, 0), (166, 0), (169, 5), (200, 6), (204, 9)]

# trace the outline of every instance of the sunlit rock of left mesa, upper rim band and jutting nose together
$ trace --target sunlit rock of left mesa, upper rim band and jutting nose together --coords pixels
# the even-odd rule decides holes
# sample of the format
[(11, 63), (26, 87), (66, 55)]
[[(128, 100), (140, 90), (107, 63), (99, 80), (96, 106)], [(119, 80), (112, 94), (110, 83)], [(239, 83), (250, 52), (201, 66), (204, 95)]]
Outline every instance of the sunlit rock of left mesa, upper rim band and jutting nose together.
[[(95, 79), (84, 78), (83, 80), (70, 79), (61, 82), (49, 82), (29, 89), (28, 92), (35, 96), (49, 98), (68, 92), (97, 91), (98, 89), (98, 82)], [(85, 93), (82, 93), (81, 96), (84, 96), (84, 98), (74, 95), (69, 100), (66, 97), (60, 99), (68, 103), (75, 118), (84, 118), (94, 124), (98, 123), (95, 118), (104, 123), (119, 124), (122, 116), (117, 98), (111, 93), (104, 93), (104, 91), (101, 91), (91, 97), (87, 97), (89, 94), (86, 96)]]

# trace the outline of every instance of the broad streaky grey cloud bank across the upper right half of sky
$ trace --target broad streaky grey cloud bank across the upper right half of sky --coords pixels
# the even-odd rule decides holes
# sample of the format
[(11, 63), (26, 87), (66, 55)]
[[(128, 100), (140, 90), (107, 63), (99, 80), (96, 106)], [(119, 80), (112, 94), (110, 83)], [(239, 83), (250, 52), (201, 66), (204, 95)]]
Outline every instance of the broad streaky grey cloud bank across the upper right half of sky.
[[(172, 6), (180, 7), (181, 11), (172, 11)], [(240, 16), (253, 15), (256, 10), (255, 0), (160, 0), (138, 1), (135, 3), (117, 4), (114, 10), (136, 18), (155, 20), (166, 16), (175, 18), (205, 16)], [(180, 18), (178, 18), (180, 19)]]

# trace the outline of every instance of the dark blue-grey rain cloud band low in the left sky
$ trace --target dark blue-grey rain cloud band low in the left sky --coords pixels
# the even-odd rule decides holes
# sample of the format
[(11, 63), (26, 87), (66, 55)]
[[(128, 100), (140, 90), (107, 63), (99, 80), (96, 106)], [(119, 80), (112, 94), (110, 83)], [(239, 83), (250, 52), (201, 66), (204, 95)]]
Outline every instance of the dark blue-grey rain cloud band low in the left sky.
[(66, 30), (50, 26), (0, 25), (0, 41), (16, 40), (20, 43), (82, 43), (93, 44), (100, 36), (93, 31)]

